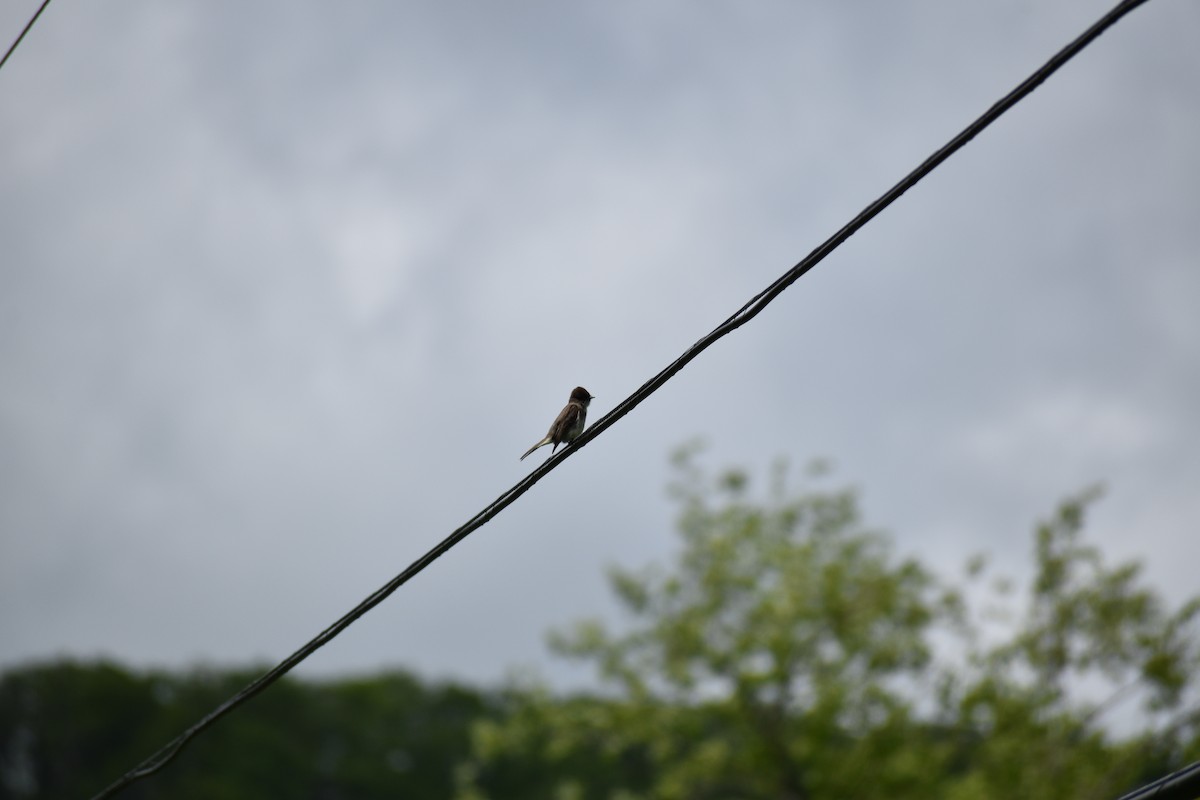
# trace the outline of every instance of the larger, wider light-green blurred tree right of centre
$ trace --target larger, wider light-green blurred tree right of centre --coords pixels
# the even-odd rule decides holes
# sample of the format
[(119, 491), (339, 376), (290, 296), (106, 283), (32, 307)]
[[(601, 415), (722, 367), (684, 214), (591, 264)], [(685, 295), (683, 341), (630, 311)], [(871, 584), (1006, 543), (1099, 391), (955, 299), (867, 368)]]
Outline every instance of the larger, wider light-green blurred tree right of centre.
[[(676, 569), (612, 571), (628, 632), (589, 620), (551, 639), (613, 693), (534, 693), (480, 726), (482, 766), (464, 795), (491, 788), (488, 766), (529, 758), (557, 776), (541, 796), (928, 792), (949, 747), (911, 738), (902, 687), (925, 680), (928, 633), (953, 595), (863, 527), (853, 492), (788, 493), (780, 467), (755, 501), (744, 473), (709, 479), (691, 450), (676, 463)], [(574, 774), (584, 754), (610, 768), (598, 790)]]

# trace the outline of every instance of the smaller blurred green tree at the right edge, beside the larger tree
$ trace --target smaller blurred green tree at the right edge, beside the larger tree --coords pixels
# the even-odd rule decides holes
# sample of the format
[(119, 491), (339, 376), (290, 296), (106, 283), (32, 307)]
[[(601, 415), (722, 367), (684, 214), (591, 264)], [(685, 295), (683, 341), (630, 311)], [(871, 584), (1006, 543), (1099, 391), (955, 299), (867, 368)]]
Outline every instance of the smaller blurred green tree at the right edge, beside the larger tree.
[[(970, 734), (959, 739), (970, 769), (943, 796), (1102, 800), (1200, 754), (1200, 599), (1169, 610), (1140, 565), (1105, 564), (1082, 536), (1099, 495), (1068, 499), (1037, 527), (1021, 608), (994, 599), (966, 630), (965, 663), (943, 670), (942, 717)], [(982, 577), (984, 561), (971, 572)], [(1014, 622), (983, 646), (980, 620), (997, 609)]]

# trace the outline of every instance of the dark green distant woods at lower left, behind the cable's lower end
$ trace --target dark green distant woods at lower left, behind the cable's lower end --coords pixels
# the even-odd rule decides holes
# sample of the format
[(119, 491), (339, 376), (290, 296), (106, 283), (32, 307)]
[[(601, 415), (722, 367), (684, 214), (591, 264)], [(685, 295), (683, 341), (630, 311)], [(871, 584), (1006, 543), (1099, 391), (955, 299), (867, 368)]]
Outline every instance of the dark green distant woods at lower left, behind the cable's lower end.
[[(11, 670), (0, 681), (0, 799), (91, 796), (258, 674), (71, 662)], [(493, 705), (404, 673), (284, 679), (122, 796), (450, 796), (470, 726)]]

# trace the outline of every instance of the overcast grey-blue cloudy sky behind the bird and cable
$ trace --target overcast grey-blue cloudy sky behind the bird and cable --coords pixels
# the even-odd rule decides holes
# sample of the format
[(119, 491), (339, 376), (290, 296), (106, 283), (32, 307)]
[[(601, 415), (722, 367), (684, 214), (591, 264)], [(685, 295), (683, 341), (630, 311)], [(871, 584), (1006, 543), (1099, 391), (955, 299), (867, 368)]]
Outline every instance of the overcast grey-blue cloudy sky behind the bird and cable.
[[(0, 71), (0, 666), (282, 658), (1110, 5), (52, 4)], [(946, 571), (1103, 481), (1195, 591), (1196, 30), (1126, 18), (306, 672), (575, 680), (544, 633), (674, 552), (697, 435)]]

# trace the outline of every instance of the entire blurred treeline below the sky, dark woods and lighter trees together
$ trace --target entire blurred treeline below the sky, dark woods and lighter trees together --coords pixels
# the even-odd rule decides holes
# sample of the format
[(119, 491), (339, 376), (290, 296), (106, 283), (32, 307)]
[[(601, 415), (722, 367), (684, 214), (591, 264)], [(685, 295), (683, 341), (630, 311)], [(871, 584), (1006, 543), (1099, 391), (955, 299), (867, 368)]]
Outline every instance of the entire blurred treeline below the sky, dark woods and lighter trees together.
[[(124, 796), (1115, 800), (1200, 758), (1200, 599), (1105, 561), (1096, 493), (1014, 537), (1019, 587), (898, 557), (853, 492), (677, 468), (676, 563), (551, 637), (596, 694), (289, 679)], [(12, 669), (0, 799), (88, 798), (258, 674)]]

